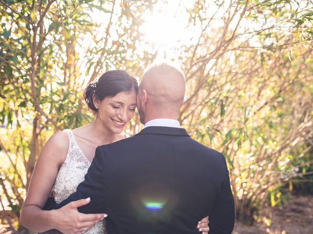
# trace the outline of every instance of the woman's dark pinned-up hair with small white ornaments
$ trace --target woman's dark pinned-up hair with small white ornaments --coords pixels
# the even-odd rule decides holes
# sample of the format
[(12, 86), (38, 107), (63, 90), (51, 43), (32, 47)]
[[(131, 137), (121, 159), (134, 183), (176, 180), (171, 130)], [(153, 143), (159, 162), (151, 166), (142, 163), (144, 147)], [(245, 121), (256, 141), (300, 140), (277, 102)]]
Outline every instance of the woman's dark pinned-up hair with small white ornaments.
[(92, 95), (98, 100), (106, 97), (114, 97), (118, 93), (130, 93), (132, 90), (138, 92), (137, 80), (128, 72), (123, 70), (113, 70), (104, 73), (98, 81), (90, 83), (84, 93), (85, 101), (90, 110), (97, 112)]

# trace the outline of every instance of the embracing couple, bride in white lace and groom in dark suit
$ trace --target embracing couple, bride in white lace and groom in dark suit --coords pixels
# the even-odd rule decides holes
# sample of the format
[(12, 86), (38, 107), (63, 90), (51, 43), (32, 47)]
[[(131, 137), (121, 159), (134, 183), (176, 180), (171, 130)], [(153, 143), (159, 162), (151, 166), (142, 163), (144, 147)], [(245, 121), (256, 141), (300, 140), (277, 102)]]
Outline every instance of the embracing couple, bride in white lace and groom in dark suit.
[[(96, 119), (46, 142), (22, 224), (38, 233), (230, 234), (226, 162), (180, 128), (184, 93), (183, 73), (166, 63), (151, 66), (139, 87), (121, 70), (89, 84), (84, 97)], [(126, 138), (136, 107), (144, 128)]]

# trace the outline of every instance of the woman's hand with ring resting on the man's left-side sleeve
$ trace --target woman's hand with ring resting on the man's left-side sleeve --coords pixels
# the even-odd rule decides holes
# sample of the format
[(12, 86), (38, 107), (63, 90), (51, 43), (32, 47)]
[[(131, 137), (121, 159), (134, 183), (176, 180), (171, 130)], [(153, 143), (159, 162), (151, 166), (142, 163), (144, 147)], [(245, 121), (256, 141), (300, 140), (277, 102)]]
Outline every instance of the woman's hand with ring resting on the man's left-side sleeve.
[(107, 217), (106, 214), (83, 214), (77, 207), (90, 202), (90, 198), (72, 201), (66, 206), (53, 210), (51, 226), (64, 234), (77, 234), (88, 232), (97, 222)]

